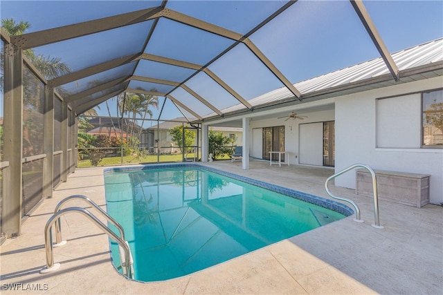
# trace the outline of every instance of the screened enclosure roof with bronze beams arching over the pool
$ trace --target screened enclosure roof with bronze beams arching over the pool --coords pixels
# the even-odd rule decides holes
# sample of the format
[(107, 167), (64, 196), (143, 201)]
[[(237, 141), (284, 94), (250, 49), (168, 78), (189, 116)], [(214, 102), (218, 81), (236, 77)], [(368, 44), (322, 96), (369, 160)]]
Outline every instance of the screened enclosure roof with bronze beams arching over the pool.
[[(316, 91), (336, 91), (337, 74), (348, 84), (359, 77), (373, 84), (372, 73), (383, 77), (378, 82), (402, 82), (402, 71), (417, 67), (415, 57), (391, 53), (443, 37), (442, 1), (0, 5), (1, 19), (31, 24), (24, 35), (10, 37), (12, 44), (69, 66), (70, 73), (46, 79), (75, 113), (120, 93), (145, 93), (159, 96), (154, 120), (204, 120), (282, 101), (306, 102)], [(441, 40), (435, 42), (442, 48)], [(410, 63), (401, 64), (404, 60)], [(366, 61), (375, 68), (363, 69)], [(434, 63), (435, 70), (435, 61), (441, 70), (441, 51), (440, 59), (419, 68), (431, 72), (426, 66)], [(361, 75), (352, 72), (355, 64)]]

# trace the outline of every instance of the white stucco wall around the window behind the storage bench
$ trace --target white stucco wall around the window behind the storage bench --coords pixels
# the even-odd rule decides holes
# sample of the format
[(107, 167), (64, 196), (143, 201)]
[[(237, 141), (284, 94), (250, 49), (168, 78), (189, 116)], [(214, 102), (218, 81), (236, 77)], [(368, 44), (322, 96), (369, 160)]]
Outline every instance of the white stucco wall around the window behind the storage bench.
[[(417, 91), (426, 91), (443, 86), (443, 78), (437, 77), (425, 81), (399, 84), (373, 91), (365, 91), (353, 95), (336, 97), (335, 99), (335, 129), (336, 129), (336, 171), (356, 163), (368, 164), (373, 169), (400, 171), (409, 173), (430, 174), (432, 204), (443, 202), (443, 149), (421, 149), (420, 125), (421, 104), (420, 95), (410, 95)], [(413, 138), (413, 143), (404, 147), (377, 147), (377, 98), (390, 95), (404, 95), (405, 99), (397, 101), (399, 108), (403, 102), (408, 102), (405, 108), (416, 114), (409, 122), (411, 126), (398, 128), (395, 136)], [(388, 98), (389, 99), (389, 98)], [(399, 114), (401, 115), (401, 114)], [(379, 119), (386, 126), (396, 124), (394, 114)], [(418, 119), (417, 119), (418, 118)], [(392, 125), (390, 125), (392, 124)], [(390, 128), (390, 127), (389, 127)], [(378, 136), (380, 141), (380, 136)], [(384, 137), (386, 140), (386, 136)], [(418, 144), (417, 144), (418, 143)], [(388, 143), (389, 144), (389, 143)], [(405, 144), (401, 144), (405, 145)], [(335, 180), (341, 187), (355, 189), (355, 173), (345, 173)]]

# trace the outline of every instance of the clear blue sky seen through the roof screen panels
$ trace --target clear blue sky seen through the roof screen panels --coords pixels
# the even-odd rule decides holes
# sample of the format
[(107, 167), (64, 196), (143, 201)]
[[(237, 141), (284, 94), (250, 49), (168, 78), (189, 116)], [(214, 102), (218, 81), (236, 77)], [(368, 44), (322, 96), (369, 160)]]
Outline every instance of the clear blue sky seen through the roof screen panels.
[[(0, 1), (1, 19), (13, 18), (31, 23), (35, 32), (71, 23), (89, 21), (119, 13), (158, 6), (161, 1)], [(286, 1), (169, 1), (167, 8), (215, 23), (244, 34)], [(443, 1), (363, 1), (390, 53), (443, 37)], [(72, 70), (99, 64), (143, 48), (152, 21), (99, 34), (35, 48), (35, 53), (60, 57)], [(379, 57), (368, 33), (349, 1), (298, 1), (266, 26), (254, 32), (251, 41), (285, 75), (296, 83), (347, 66)], [(160, 19), (145, 53), (206, 64), (233, 41), (224, 37)], [(245, 99), (282, 87), (281, 82), (251, 53), (239, 44), (209, 66), (217, 76)], [(128, 69), (126, 69), (128, 70)], [(138, 71), (162, 79), (188, 77), (189, 70), (144, 63)], [(154, 72), (150, 73), (152, 70)], [(109, 77), (118, 73), (109, 73)], [(176, 77), (177, 76), (177, 77)], [(98, 79), (98, 78), (96, 78)], [(79, 92), (89, 79), (66, 85)], [(84, 84), (82, 84), (84, 83)], [(135, 82), (133, 84), (136, 84)], [(140, 84), (136, 84), (140, 85)], [(205, 74), (197, 74), (186, 85), (219, 109), (237, 104)], [(147, 87), (148, 85), (146, 85)], [(183, 99), (201, 115), (212, 112), (178, 89), (172, 95)], [(165, 99), (161, 97), (163, 102)], [(172, 108), (169, 99), (164, 109)], [(115, 107), (114, 107), (115, 108)], [(113, 109), (114, 109), (113, 108)], [(98, 111), (107, 115), (106, 107)], [(154, 110), (154, 118), (159, 116)], [(114, 112), (115, 113), (115, 112)], [(172, 117), (179, 111), (168, 110)], [(162, 113), (163, 115), (165, 113)], [(115, 114), (113, 114), (115, 115)], [(163, 119), (172, 119), (172, 117)], [(189, 115), (189, 114), (188, 114)]]

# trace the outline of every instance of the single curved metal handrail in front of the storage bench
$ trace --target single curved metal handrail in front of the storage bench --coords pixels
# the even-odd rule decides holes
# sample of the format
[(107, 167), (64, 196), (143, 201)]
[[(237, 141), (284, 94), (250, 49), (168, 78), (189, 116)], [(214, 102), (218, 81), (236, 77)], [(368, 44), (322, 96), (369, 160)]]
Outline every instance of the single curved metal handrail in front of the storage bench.
[(347, 167), (346, 169), (343, 169), (340, 172), (335, 173), (332, 176), (329, 176), (329, 178), (327, 178), (327, 180), (325, 182), (326, 192), (327, 192), (327, 194), (329, 196), (331, 196), (334, 199), (342, 200), (344, 202), (349, 202), (350, 204), (352, 204), (352, 206), (355, 209), (355, 216), (356, 216), (356, 218), (354, 218), (354, 221), (356, 221), (356, 222), (363, 222), (363, 220), (361, 220), (361, 218), (360, 218), (360, 209), (357, 206), (357, 204), (352, 202), (352, 200), (348, 200), (348, 199), (345, 199), (345, 198), (340, 198), (340, 197), (334, 196), (331, 193), (331, 191), (329, 191), (329, 188), (327, 187), (327, 184), (328, 184), (329, 180), (332, 180), (332, 179), (336, 178), (337, 176), (342, 175), (343, 173), (345, 173), (347, 171), (350, 171), (350, 170), (352, 170), (352, 169), (354, 169), (356, 167), (361, 167), (361, 168), (367, 169), (371, 173), (371, 176), (372, 176), (372, 189), (374, 191), (374, 220), (375, 220), (374, 224), (372, 224), (372, 227), (375, 227), (377, 229), (383, 229), (383, 226), (380, 225), (380, 218), (379, 218), (379, 196), (378, 196), (378, 193), (377, 193), (377, 177), (375, 175), (374, 170), (370, 166), (367, 166), (367, 165), (364, 165), (364, 164), (354, 164), (352, 166)]

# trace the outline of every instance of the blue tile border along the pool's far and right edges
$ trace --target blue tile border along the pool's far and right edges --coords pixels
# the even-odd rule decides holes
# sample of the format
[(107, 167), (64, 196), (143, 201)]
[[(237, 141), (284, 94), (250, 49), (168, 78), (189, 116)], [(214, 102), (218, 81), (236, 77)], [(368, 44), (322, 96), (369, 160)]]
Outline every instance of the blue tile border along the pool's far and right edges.
[(354, 214), (354, 210), (348, 207), (341, 202), (336, 202), (334, 200), (328, 200), (325, 198), (321, 198), (318, 196), (311, 195), (309, 193), (304, 193), (302, 191), (296, 191), (294, 189), (288, 189), (286, 187), (280, 187), (275, 184), (269, 184), (267, 182), (262, 182), (260, 180), (255, 180), (253, 178), (247, 178), (241, 175), (237, 175), (234, 173), (226, 172), (223, 170), (215, 169), (212, 167), (204, 166), (197, 163), (168, 163), (168, 164), (149, 164), (149, 165), (137, 165), (137, 166), (125, 166), (125, 167), (111, 167), (103, 170), (104, 174), (112, 173), (115, 171), (137, 171), (137, 170), (150, 170), (150, 169), (167, 169), (167, 168), (199, 168), (204, 169), (206, 171), (214, 172), (220, 175), (224, 175), (229, 178), (233, 178), (235, 180), (239, 180), (242, 182), (246, 182), (248, 184), (253, 184), (257, 187), (261, 187), (263, 189), (269, 189), (270, 191), (275, 191), (277, 193), (281, 193), (284, 196), (289, 196), (291, 198), (296, 198), (298, 200), (302, 200), (304, 202), (308, 202), (310, 204), (316, 204), (319, 207), (323, 207), (326, 209), (330, 209), (332, 211), (336, 211), (338, 213), (343, 214), (344, 216), (352, 216)]

